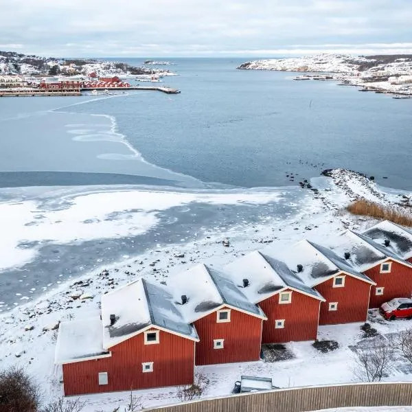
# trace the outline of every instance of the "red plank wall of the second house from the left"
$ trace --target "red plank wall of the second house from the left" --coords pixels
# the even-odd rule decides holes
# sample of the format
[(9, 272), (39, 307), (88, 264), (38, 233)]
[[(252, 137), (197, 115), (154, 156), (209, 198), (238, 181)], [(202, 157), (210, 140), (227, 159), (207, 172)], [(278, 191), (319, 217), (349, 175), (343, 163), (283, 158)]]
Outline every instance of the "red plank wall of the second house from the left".
[[(216, 323), (216, 311), (194, 322), (196, 365), (259, 361), (262, 319), (231, 309), (230, 322)], [(214, 349), (214, 339), (225, 339), (223, 349)]]

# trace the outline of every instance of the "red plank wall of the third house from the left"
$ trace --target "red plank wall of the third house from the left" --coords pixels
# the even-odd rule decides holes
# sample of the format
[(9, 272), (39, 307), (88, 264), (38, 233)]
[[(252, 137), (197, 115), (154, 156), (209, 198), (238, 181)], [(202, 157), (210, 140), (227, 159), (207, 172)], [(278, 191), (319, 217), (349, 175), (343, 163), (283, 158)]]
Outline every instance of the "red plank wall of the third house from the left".
[[(262, 343), (289, 341), (314, 341), (317, 338), (319, 299), (292, 291), (290, 304), (279, 305), (279, 295), (260, 302), (259, 306), (268, 317), (263, 323)], [(275, 328), (275, 321), (284, 319), (285, 327)]]

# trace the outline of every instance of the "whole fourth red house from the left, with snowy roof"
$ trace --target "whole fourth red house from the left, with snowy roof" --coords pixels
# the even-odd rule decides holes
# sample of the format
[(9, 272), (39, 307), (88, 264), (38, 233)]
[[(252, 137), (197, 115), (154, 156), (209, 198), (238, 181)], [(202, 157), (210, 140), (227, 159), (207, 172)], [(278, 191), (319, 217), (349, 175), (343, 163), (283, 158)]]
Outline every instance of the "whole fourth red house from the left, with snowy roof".
[(365, 322), (371, 286), (375, 282), (325, 247), (303, 240), (282, 256), (307, 286), (325, 299), (319, 325)]

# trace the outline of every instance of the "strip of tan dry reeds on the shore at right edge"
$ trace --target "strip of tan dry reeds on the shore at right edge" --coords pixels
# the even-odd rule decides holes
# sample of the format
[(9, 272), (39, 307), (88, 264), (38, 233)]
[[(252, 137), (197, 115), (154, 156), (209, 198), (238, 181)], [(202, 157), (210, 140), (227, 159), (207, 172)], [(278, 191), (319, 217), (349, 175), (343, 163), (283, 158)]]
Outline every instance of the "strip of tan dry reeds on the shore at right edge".
[(358, 200), (346, 207), (352, 214), (360, 216), (371, 216), (377, 219), (390, 220), (402, 226), (412, 227), (412, 214), (400, 208), (383, 206), (371, 201)]

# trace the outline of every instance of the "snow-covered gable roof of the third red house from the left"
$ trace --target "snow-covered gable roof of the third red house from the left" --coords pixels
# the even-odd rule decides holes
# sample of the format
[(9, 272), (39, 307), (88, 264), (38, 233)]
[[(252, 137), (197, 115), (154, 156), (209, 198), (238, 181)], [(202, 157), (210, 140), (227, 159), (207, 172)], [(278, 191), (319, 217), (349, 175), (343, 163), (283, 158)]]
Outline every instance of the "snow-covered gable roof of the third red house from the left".
[[(317, 290), (306, 286), (286, 263), (264, 255), (260, 251), (253, 251), (229, 263), (225, 266), (225, 271), (231, 275), (244, 295), (255, 304), (286, 288), (293, 288), (306, 295), (323, 299)], [(243, 287), (243, 279), (248, 280), (247, 287)]]

